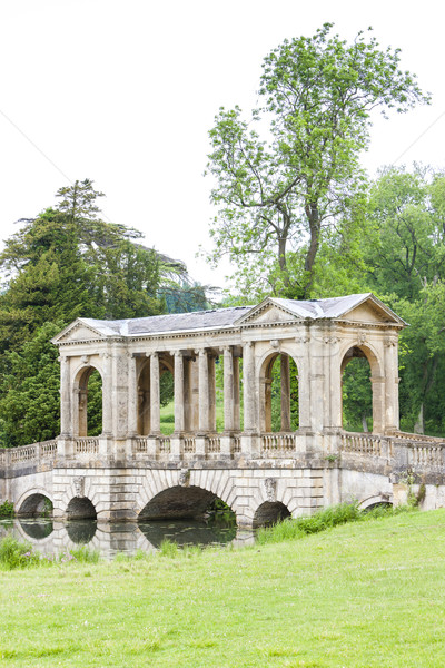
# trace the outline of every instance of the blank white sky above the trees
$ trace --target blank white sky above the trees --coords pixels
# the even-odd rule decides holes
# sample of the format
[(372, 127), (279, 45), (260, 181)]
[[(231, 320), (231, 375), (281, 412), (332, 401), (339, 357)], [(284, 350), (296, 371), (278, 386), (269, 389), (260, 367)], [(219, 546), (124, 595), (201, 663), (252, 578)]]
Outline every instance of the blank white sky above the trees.
[(444, 168), (444, 13), (437, 0), (0, 0), (0, 240), (90, 178), (107, 220), (226, 286), (229, 265), (196, 257), (211, 248), (204, 170), (218, 108), (255, 107), (263, 59), (285, 38), (329, 21), (352, 40), (372, 26), (433, 102), (376, 118), (364, 166)]

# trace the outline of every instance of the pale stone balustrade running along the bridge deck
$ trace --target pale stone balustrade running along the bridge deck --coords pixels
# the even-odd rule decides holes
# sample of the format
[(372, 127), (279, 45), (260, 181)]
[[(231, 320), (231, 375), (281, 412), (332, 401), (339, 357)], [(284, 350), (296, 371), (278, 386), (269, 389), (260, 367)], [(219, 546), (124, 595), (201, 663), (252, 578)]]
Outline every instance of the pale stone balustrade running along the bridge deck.
[[(180, 438), (174, 434), (171, 436), (136, 436), (128, 440), (126, 456), (129, 463), (156, 460), (166, 462), (170, 459), (177, 462), (182, 459), (196, 458), (237, 460), (240, 455), (250, 460), (291, 459), (297, 458), (298, 453), (300, 454), (301, 439), (303, 435), (298, 432), (271, 432), (263, 433), (259, 436), (246, 436), (241, 433), (230, 435), (182, 434)], [(59, 451), (57, 440), (0, 449), (0, 475), (20, 475), (29, 469), (38, 469), (41, 465), (51, 468), (56, 459), (58, 462), (76, 463), (78, 461), (81, 464), (89, 460), (107, 462), (109, 452), (101, 445), (101, 436), (77, 438), (66, 440), (63, 443), (63, 449), (59, 448)], [(246, 448), (246, 443), (250, 446)], [(251, 445), (253, 443), (255, 446)], [(335, 461), (338, 461), (339, 465), (348, 466), (349, 460), (356, 461), (357, 458), (360, 458), (368, 464), (370, 462), (370, 465), (373, 461), (386, 462), (393, 470), (413, 470), (417, 473), (435, 474), (445, 472), (445, 441), (419, 434), (398, 432), (382, 436), (370, 433), (343, 432), (338, 434), (337, 451), (332, 451), (332, 454), (336, 453), (339, 456)], [(314, 452), (315, 456), (316, 454)], [(353, 455), (353, 459), (348, 460), (349, 455)]]

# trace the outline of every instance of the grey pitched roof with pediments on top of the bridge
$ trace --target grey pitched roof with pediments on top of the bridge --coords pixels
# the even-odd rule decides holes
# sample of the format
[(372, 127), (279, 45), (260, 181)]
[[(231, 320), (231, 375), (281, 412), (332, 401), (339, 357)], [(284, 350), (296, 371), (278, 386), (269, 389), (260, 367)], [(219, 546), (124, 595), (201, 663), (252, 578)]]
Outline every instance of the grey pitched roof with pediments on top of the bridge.
[[(170, 332), (224, 330), (233, 326), (239, 327), (255, 323), (257, 314), (265, 310), (274, 308), (287, 321), (299, 321), (301, 318), (312, 321), (326, 318), (335, 320), (344, 316), (365, 302), (369, 302), (370, 305), (379, 312), (383, 322), (389, 321), (399, 326), (406, 324), (372, 293), (300, 302), (267, 297), (257, 306), (230, 306), (228, 308), (211, 308), (191, 313), (170, 313), (167, 315), (151, 315), (148, 317), (117, 321), (82, 317), (66, 327), (52, 340), (52, 342), (62, 343), (66, 335), (75, 326), (78, 327), (80, 325), (88, 327), (97, 335), (103, 337), (132, 337), (145, 334), (168, 334)], [(283, 317), (280, 320), (283, 320)]]

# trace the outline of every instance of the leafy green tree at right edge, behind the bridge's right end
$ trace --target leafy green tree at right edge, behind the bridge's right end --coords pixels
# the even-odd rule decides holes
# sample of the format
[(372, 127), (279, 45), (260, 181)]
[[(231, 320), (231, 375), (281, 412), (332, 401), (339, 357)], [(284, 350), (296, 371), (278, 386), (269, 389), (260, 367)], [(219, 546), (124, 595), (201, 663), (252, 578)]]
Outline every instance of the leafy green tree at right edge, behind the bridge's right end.
[(445, 395), (445, 176), (415, 165), (384, 168), (362, 236), (364, 285), (409, 327), (400, 335), (404, 429), (443, 432)]

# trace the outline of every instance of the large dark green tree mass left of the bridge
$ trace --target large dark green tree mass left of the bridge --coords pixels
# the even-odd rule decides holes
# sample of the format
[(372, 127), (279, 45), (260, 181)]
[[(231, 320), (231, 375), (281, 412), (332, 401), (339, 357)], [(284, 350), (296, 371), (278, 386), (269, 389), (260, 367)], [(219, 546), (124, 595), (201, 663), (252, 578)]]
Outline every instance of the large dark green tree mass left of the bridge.
[[(7, 446), (59, 433), (59, 364), (49, 340), (63, 325), (78, 316), (154, 315), (165, 306), (158, 292), (168, 258), (138, 244), (138, 232), (99, 218), (101, 194), (92, 181), (76, 181), (58, 197), (0, 255), (0, 438)], [(96, 379), (90, 392), (97, 399), (91, 433), (100, 430), (99, 384)]]

